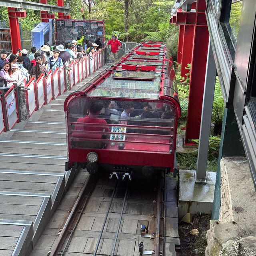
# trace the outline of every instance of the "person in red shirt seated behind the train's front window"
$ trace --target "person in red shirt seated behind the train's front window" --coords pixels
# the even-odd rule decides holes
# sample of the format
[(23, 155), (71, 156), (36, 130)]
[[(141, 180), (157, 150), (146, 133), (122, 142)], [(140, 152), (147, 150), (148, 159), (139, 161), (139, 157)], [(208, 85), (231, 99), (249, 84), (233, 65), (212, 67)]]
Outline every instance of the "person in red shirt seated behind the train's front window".
[[(97, 124), (107, 124), (104, 119), (98, 118), (100, 110), (104, 107), (104, 103), (99, 100), (91, 100), (89, 103), (89, 114), (86, 117), (78, 118), (76, 122), (82, 123), (83, 125), (76, 124), (75, 131), (89, 131), (88, 133), (81, 134), (80, 137), (101, 139), (104, 132), (110, 132), (108, 126), (102, 126)], [(86, 125), (86, 124), (95, 124)], [(97, 133), (90, 133), (97, 132)]]

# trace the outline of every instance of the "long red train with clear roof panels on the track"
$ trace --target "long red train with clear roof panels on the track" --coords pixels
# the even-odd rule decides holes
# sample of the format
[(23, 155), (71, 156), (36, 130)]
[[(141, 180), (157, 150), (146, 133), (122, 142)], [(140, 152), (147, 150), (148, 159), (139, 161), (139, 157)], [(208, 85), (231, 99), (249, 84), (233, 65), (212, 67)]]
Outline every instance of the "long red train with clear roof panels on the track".
[(172, 172), (180, 104), (163, 43), (140, 43), (64, 103), (67, 170), (116, 178)]

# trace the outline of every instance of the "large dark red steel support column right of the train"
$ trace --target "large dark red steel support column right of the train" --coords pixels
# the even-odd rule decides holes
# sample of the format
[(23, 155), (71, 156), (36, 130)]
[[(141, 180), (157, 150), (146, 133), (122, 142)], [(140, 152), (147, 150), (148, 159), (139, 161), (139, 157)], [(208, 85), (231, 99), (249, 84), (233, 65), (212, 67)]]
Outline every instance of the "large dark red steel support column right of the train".
[[(184, 26), (181, 60), (181, 75), (187, 73), (185, 67), (191, 63), (190, 87), (188, 99), (188, 117), (186, 123), (185, 144), (189, 140), (198, 139), (200, 134), (202, 100), (204, 94), (204, 78), (208, 52), (209, 32), (206, 22), (205, 0), (197, 0), (191, 5), (196, 12), (182, 12), (178, 9), (170, 22)], [(179, 46), (180, 47), (180, 46)], [(180, 57), (180, 55), (179, 55)]]

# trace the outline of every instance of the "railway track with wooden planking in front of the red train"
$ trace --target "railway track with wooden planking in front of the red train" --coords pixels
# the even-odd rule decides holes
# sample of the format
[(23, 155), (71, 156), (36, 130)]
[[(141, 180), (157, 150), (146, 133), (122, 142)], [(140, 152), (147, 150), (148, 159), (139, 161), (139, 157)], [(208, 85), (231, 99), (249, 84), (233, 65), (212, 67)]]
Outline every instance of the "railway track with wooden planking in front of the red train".
[(48, 256), (175, 255), (164, 249), (164, 186), (162, 173), (131, 181), (91, 175)]

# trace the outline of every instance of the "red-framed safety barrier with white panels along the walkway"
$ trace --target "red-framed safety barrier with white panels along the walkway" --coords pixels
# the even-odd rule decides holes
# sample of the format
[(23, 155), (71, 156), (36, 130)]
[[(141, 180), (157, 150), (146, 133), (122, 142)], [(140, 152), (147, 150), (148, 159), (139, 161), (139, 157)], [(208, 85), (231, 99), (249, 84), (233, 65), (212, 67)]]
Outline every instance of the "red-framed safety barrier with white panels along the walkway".
[(41, 74), (38, 79), (33, 76), (28, 83), (22, 79), (11, 87), (0, 88), (0, 134), (10, 130), (16, 122), (29, 120), (34, 111), (40, 110), (104, 65), (104, 52), (99, 50), (92, 56), (56, 68), (54, 72), (50, 70), (47, 76)]

